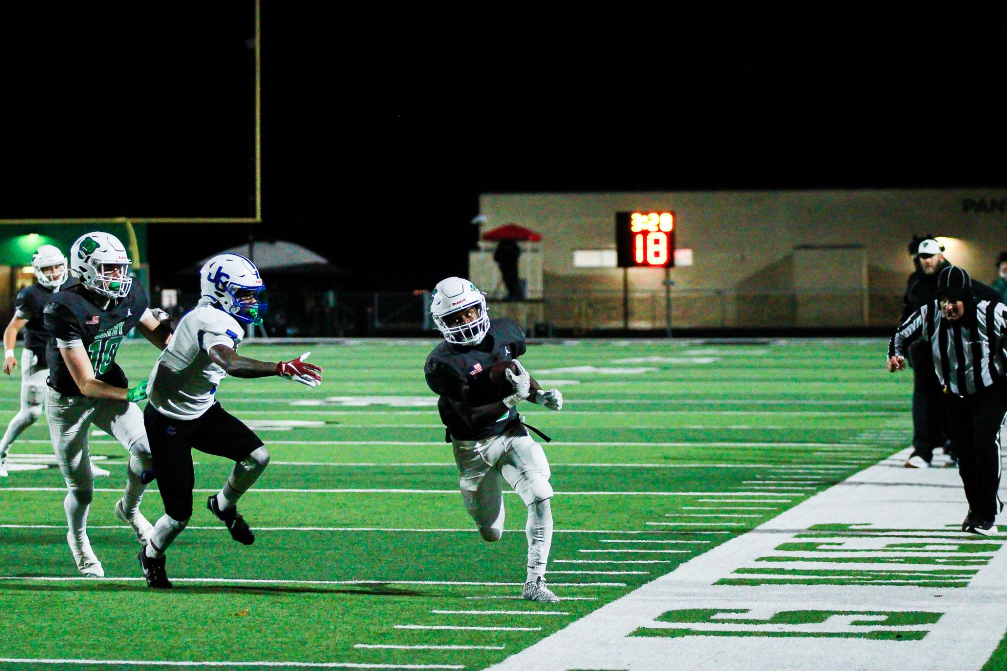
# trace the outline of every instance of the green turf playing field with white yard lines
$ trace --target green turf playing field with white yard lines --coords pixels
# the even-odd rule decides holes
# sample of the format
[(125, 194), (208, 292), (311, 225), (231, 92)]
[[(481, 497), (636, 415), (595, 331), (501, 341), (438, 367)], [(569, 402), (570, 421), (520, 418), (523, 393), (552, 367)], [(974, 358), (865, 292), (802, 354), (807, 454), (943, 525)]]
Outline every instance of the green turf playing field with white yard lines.
[[(509, 533), (494, 544), (462, 507), (423, 380), (433, 344), (312, 346), (325, 368), (314, 389), (226, 380), (221, 402), (256, 423), (272, 454), (240, 505), (257, 539), (232, 541), (205, 510), (230, 463), (194, 453), (195, 513), (168, 553), (171, 592), (146, 588), (140, 546), (114, 517), (126, 453), (109, 437), (92, 439), (112, 477), (96, 483), (89, 533), (120, 579), (78, 579), (57, 470), (0, 480), (0, 658), (482, 668), (892, 454), (910, 433), (911, 376), (883, 371), (877, 341), (531, 345), (523, 362), (566, 404), (519, 408), (554, 439), (549, 578), (564, 599), (530, 604), (514, 599), (525, 575), (520, 499), (505, 496)], [(131, 343), (119, 361), (135, 382), (154, 354)], [(18, 380), (0, 385), (5, 425)], [(28, 454), (51, 456), (44, 417), (11, 463)], [(163, 512), (156, 483), (142, 509), (151, 521)], [(0, 664), (15, 667), (24, 663)]]

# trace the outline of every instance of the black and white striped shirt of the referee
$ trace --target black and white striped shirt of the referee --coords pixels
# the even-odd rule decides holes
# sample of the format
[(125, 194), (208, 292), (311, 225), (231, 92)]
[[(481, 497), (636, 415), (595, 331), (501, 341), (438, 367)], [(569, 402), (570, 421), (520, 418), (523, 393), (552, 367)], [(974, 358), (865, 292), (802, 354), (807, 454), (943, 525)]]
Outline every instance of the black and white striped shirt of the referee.
[(930, 343), (941, 384), (960, 396), (1000, 382), (1007, 372), (1007, 306), (980, 301), (975, 318), (946, 318), (933, 301), (909, 315), (888, 342), (888, 356), (905, 356), (905, 346), (922, 338)]

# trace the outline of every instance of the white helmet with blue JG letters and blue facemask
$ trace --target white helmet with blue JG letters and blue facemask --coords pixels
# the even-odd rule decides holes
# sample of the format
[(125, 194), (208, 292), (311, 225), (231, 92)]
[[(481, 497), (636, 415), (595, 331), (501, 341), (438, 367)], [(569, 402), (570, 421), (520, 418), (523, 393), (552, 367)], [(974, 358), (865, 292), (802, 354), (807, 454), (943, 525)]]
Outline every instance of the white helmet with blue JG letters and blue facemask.
[(240, 322), (262, 324), (266, 311), (259, 293), (266, 289), (259, 269), (240, 254), (219, 254), (199, 271), (199, 291)]

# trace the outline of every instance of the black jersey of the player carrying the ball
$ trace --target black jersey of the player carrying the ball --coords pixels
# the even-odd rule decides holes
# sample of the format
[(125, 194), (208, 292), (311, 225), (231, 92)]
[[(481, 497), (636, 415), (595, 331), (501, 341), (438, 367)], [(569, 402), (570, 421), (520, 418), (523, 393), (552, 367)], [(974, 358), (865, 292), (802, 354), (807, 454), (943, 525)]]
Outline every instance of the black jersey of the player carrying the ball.
[(451, 436), (461, 441), (478, 441), (499, 436), (518, 420), (518, 410), (511, 408), (484, 430), (474, 431), (454, 411), (448, 398), (471, 402), (469, 391), (476, 375), (498, 361), (512, 361), (525, 353), (525, 333), (515, 322), (505, 317), (489, 323), (489, 332), (474, 347), (455, 345), (446, 340), (427, 356), (423, 372), (427, 386), (438, 394), (437, 409), (441, 422)]

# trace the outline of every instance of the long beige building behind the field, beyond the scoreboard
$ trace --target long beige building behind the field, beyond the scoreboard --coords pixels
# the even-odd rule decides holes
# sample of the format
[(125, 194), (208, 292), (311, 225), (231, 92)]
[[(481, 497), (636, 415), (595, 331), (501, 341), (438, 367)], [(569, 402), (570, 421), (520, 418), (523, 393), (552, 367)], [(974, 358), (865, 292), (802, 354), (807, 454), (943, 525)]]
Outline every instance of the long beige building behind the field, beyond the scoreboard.
[[(675, 213), (673, 286), (663, 269), (615, 268), (615, 214), (633, 211)], [(529, 300), (493, 314), (575, 332), (889, 327), (913, 233), (943, 236), (949, 261), (986, 283), (1007, 249), (1007, 188), (487, 193), (479, 213), (480, 233), (514, 222), (543, 235), (522, 243)], [(469, 274), (500, 296), (492, 243)]]

